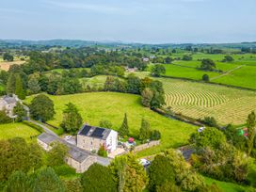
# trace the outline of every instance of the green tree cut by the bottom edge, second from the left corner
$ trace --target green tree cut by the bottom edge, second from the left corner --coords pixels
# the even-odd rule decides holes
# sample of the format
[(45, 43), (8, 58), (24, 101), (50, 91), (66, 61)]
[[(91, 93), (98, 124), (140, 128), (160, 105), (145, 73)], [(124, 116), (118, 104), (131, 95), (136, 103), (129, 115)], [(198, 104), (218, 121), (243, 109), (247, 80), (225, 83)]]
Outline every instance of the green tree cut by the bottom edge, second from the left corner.
[(34, 191), (64, 192), (64, 186), (53, 168), (43, 168), (35, 181)]

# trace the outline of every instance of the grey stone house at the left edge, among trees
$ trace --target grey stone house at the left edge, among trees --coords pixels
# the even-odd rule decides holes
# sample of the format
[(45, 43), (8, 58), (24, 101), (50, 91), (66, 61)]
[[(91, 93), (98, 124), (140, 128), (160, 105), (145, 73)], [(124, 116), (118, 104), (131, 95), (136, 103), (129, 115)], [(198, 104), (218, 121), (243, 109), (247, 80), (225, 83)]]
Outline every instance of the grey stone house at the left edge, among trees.
[(15, 118), (13, 115), (13, 108), (16, 106), (17, 102), (19, 102), (19, 98), (13, 94), (12, 96), (4, 96), (0, 98), (0, 110), (6, 111), (9, 118)]

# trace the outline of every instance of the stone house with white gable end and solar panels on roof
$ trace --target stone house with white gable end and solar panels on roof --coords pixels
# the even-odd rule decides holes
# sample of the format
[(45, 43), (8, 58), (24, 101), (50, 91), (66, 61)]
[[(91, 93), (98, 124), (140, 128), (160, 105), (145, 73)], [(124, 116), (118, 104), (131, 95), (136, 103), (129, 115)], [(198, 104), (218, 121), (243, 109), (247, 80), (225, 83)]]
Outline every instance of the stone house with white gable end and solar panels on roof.
[(104, 146), (107, 152), (114, 152), (118, 146), (118, 132), (102, 127), (83, 125), (77, 134), (77, 147), (87, 151), (98, 151)]

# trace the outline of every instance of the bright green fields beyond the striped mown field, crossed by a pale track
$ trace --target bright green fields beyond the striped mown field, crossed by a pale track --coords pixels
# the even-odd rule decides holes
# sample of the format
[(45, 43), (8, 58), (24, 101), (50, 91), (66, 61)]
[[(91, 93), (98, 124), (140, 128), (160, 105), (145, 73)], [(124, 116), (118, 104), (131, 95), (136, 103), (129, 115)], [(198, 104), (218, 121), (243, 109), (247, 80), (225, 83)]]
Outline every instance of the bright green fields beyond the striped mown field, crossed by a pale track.
[[(182, 57), (183, 55), (173, 56)], [(232, 54), (231, 56), (234, 61), (229, 63), (221, 62), (224, 56), (226, 56), (224, 54), (211, 55), (198, 53), (192, 56), (192, 61), (175, 60), (172, 64), (164, 65), (167, 71), (166, 75), (201, 80), (202, 75), (207, 73), (211, 81), (215, 83), (256, 89), (256, 55)], [(200, 59), (202, 58), (213, 59), (216, 62), (216, 69), (222, 72), (203, 72), (198, 70)]]

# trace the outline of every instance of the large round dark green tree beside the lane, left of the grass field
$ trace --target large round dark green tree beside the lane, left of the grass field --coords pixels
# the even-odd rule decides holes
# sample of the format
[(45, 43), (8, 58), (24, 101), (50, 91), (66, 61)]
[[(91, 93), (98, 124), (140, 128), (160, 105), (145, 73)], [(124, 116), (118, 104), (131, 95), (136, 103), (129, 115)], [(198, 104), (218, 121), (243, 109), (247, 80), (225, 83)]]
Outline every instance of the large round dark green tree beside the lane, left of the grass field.
[(31, 117), (43, 122), (51, 120), (55, 115), (54, 102), (47, 96), (36, 96), (29, 105)]

